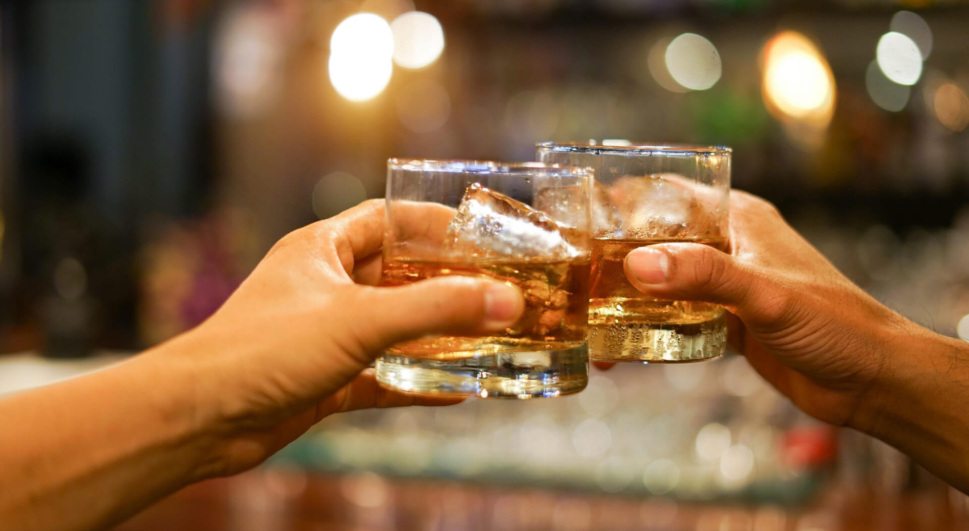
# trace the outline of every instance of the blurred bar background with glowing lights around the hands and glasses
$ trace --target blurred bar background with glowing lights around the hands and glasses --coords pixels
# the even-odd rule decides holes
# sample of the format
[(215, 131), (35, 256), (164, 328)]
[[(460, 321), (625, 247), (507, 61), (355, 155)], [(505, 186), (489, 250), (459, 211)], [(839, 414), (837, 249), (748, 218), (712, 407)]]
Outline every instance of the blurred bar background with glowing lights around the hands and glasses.
[[(278, 237), (382, 197), (388, 157), (537, 141), (730, 145), (736, 187), (969, 340), (967, 27), (956, 0), (2, 0), (0, 392), (200, 323)], [(727, 357), (329, 419), (124, 528), (960, 525)]]

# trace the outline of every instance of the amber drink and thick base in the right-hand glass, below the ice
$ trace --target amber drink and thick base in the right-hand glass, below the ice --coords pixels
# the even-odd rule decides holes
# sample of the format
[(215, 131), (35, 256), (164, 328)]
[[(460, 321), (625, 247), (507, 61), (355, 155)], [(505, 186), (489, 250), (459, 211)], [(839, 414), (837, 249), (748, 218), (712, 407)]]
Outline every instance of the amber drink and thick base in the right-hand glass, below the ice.
[(727, 249), (726, 238), (592, 240), (590, 359), (676, 362), (724, 353), (727, 330), (721, 306), (646, 297), (626, 279), (623, 262), (630, 251), (672, 241)]

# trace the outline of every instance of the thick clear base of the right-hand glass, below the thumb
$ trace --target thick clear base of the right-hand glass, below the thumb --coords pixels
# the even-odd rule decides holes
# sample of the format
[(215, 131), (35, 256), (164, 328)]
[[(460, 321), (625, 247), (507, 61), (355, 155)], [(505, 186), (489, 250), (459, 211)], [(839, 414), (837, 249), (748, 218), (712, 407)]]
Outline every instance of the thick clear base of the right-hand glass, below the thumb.
[(589, 323), (589, 359), (649, 363), (686, 363), (723, 356), (727, 320), (723, 315), (686, 325)]

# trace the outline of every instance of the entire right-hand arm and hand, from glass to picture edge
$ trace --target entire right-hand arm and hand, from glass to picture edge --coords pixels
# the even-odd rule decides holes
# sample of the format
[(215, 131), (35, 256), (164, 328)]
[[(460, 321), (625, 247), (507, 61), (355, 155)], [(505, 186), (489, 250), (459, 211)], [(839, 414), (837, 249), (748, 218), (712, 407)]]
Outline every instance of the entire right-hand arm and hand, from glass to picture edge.
[(765, 201), (735, 192), (731, 253), (691, 243), (626, 257), (641, 292), (730, 311), (731, 344), (806, 413), (908, 453), (969, 492), (969, 344), (869, 297)]

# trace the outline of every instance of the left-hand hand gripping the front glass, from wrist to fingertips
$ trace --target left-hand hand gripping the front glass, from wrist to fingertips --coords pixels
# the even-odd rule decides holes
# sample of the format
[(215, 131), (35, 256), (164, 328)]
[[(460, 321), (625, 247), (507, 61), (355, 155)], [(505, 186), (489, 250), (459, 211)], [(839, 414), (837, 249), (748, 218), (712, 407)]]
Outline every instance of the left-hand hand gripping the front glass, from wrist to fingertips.
[[(426, 219), (415, 216), (416, 231), (439, 229)], [(383, 201), (289, 234), (215, 315), (170, 343), (168, 355), (190, 353), (217, 474), (258, 464), (331, 413), (460, 401), (384, 390), (366, 367), (399, 341), (499, 330), (520, 316), (521, 293), (495, 281), (355, 283), (379, 280), (383, 237)]]

